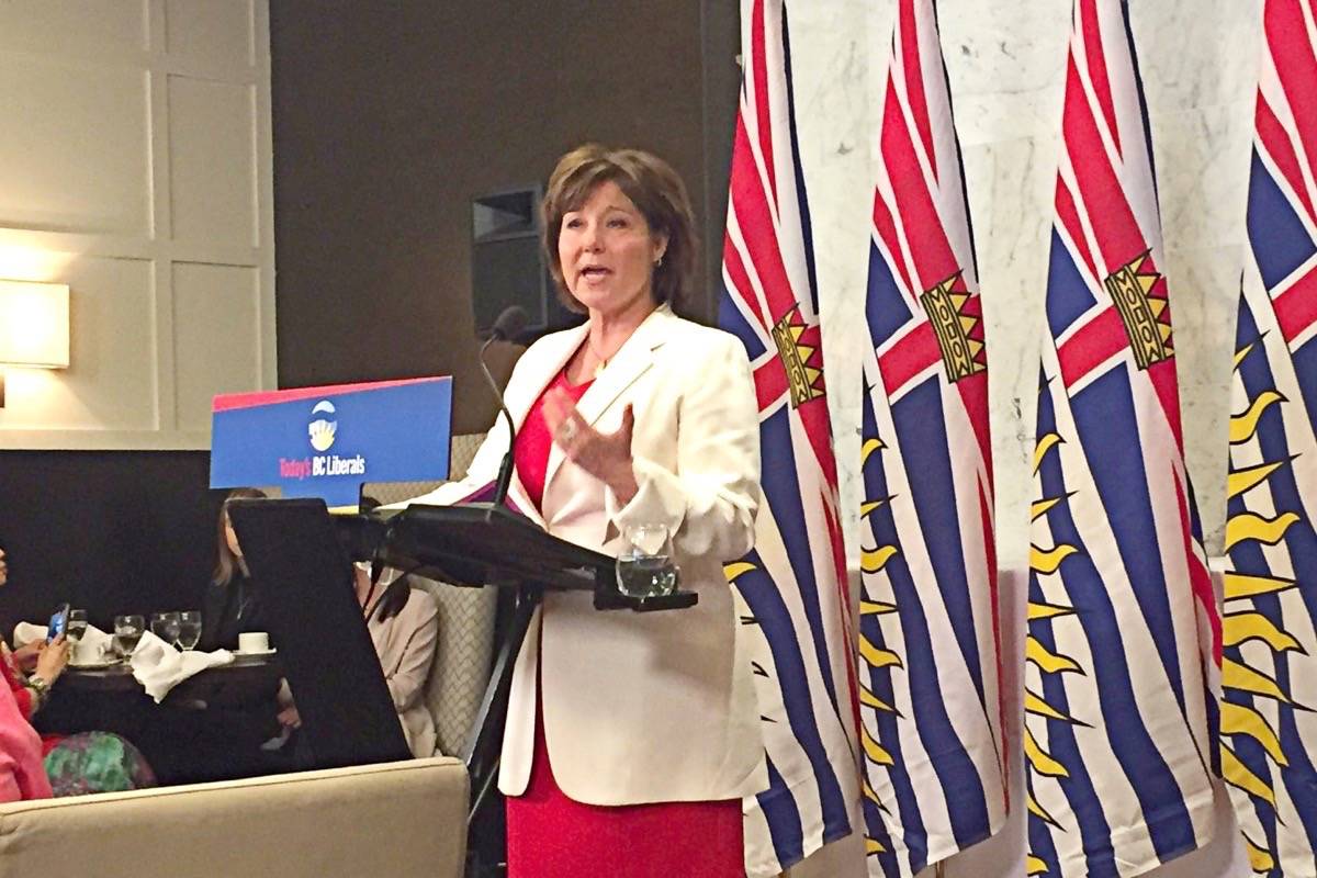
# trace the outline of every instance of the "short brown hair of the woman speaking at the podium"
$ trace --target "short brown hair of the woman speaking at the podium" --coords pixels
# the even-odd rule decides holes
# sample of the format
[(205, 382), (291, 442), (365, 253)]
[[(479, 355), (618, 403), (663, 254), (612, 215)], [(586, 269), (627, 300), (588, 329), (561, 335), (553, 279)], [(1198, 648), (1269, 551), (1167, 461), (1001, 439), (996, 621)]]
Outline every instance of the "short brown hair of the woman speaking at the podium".
[(686, 184), (668, 162), (652, 153), (598, 143), (578, 146), (560, 158), (544, 194), (544, 253), (558, 300), (577, 313), (586, 311), (562, 276), (558, 233), (564, 215), (579, 209), (597, 187), (608, 182), (631, 199), (652, 236), (668, 238), (662, 261), (653, 270), (651, 295), (656, 304), (670, 301), (674, 311), (684, 311), (691, 295), (698, 250)]

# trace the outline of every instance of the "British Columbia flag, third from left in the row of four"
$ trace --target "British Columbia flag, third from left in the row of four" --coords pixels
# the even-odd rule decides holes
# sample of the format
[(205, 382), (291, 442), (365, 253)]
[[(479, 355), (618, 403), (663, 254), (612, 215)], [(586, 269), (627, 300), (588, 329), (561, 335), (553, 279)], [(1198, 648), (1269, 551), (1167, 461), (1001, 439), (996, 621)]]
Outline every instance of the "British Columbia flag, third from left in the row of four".
[(1221, 629), (1127, 16), (1075, 0), (1065, 71), (1030, 534), (1031, 875), (1137, 875), (1212, 832)]

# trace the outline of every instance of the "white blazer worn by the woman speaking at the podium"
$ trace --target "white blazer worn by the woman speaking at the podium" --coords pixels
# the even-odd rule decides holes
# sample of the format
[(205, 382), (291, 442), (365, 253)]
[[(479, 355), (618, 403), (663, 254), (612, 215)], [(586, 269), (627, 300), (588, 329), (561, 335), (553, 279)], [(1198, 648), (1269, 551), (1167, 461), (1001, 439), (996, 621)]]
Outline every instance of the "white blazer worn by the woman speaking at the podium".
[[(585, 340), (545, 336), (512, 371), (518, 428)], [(639, 491), (626, 505), (549, 452), (543, 515), (514, 477), (510, 499), (549, 533), (607, 554), (628, 523), (666, 523), (689, 609), (595, 611), (587, 592), (549, 592), (518, 656), (499, 788), (525, 791), (535, 741), (536, 666), (554, 778), (589, 804), (738, 799), (768, 787), (751, 659), (723, 562), (753, 545), (760, 499), (759, 419), (745, 349), (728, 333), (657, 308), (577, 405), (603, 432), (631, 404)], [(414, 503), (454, 503), (493, 480), (507, 450), (503, 419), (466, 479)], [(543, 623), (543, 624), (541, 624)]]

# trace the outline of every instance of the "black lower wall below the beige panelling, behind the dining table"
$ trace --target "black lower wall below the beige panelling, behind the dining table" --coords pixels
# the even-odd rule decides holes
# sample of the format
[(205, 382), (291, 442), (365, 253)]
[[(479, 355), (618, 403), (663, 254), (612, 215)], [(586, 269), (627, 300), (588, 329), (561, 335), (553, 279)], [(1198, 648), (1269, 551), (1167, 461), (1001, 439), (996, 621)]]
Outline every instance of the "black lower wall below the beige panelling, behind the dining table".
[(0, 632), (57, 602), (117, 613), (200, 609), (221, 492), (205, 452), (3, 452)]

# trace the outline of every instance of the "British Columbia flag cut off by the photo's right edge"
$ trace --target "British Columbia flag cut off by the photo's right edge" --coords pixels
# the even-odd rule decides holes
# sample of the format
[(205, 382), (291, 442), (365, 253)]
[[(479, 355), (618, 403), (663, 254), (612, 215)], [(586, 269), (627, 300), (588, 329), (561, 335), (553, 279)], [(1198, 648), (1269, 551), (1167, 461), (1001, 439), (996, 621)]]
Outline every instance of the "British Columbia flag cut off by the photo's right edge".
[(1226, 500), (1221, 766), (1252, 869), (1317, 861), (1317, 25), (1266, 0)]

